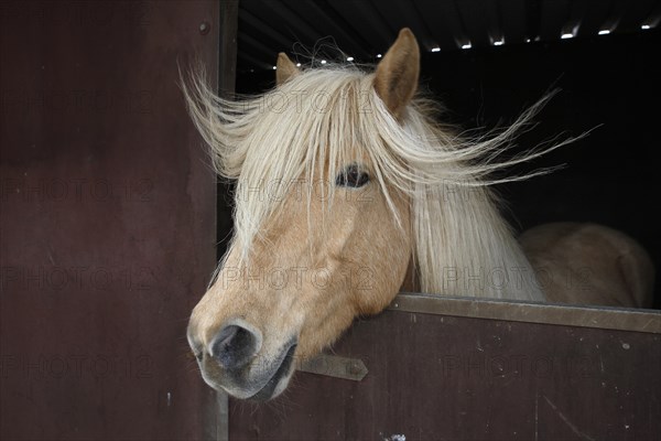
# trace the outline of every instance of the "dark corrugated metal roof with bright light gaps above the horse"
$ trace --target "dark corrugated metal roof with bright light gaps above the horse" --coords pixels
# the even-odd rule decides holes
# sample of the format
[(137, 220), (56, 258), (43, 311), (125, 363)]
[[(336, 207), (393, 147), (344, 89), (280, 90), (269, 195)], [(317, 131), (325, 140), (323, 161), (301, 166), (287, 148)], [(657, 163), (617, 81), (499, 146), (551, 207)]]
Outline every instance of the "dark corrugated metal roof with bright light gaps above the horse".
[(325, 46), (370, 63), (404, 26), (442, 52), (641, 32), (660, 20), (661, 0), (240, 0), (238, 71)]

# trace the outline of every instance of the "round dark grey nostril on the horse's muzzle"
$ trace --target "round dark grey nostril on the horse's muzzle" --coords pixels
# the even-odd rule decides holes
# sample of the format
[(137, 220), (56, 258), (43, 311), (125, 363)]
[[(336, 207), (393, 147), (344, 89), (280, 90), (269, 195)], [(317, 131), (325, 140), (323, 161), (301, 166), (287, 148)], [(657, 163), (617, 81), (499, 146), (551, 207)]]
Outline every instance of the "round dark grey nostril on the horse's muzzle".
[(227, 325), (210, 343), (212, 355), (228, 370), (246, 366), (261, 348), (259, 331), (238, 324)]

